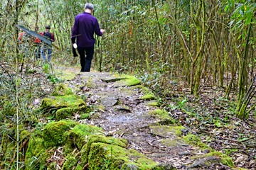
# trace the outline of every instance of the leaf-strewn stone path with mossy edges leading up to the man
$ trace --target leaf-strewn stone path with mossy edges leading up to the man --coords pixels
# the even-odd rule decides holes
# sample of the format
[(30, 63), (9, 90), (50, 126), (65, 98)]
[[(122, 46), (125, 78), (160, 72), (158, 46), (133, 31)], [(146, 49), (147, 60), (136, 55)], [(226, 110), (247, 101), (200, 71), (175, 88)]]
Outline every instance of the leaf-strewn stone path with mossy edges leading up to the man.
[[(213, 151), (198, 147), (198, 142), (193, 141), (198, 138), (188, 137), (188, 128), (171, 123), (171, 117), (166, 119), (156, 111), (158, 101), (143, 100), (142, 96), (150, 92), (139, 83), (130, 86), (111, 73), (59, 69), (75, 74), (75, 79), (67, 79), (66, 83), (86, 98), (87, 105), (99, 106), (92, 119), (78, 122), (98, 126), (106, 136), (122, 137), (128, 140), (128, 149), (136, 149), (154, 162), (171, 164), (176, 169), (230, 169), (223, 165), (222, 156), (212, 157)], [(195, 145), (191, 145), (193, 142)]]

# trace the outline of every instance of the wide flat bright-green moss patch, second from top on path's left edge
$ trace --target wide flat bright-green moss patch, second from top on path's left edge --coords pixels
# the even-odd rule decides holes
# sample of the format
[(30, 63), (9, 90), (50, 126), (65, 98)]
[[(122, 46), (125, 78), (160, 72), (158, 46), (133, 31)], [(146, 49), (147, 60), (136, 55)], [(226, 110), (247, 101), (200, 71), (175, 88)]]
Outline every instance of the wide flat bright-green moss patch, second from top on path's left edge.
[(77, 95), (68, 95), (68, 96), (56, 96), (52, 98), (44, 98), (41, 108), (58, 108), (58, 107), (78, 107), (84, 106), (85, 101)]

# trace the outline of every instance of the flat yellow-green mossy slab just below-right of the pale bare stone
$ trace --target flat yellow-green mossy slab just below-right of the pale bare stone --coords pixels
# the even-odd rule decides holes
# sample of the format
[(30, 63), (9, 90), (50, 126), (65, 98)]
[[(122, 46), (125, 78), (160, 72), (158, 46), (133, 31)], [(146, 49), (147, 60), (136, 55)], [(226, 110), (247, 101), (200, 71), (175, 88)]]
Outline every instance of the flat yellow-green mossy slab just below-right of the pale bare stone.
[(184, 128), (183, 126), (168, 126), (168, 125), (160, 125), (160, 126), (150, 126), (149, 130), (153, 135), (159, 135), (161, 137), (169, 137), (172, 135), (181, 135)]

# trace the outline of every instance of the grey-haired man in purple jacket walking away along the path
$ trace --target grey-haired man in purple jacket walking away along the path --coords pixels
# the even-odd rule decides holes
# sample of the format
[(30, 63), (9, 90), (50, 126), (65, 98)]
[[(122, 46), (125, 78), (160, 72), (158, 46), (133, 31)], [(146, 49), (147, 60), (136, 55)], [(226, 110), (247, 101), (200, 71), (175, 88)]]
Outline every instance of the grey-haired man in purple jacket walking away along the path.
[[(75, 23), (72, 30), (72, 43), (77, 39), (78, 52), (80, 55), (81, 72), (90, 72), (92, 56), (94, 53), (95, 38), (93, 33), (102, 36), (105, 30), (101, 30), (97, 18), (92, 16), (93, 5), (85, 4), (85, 12), (75, 16)], [(86, 58), (85, 58), (86, 52)]]

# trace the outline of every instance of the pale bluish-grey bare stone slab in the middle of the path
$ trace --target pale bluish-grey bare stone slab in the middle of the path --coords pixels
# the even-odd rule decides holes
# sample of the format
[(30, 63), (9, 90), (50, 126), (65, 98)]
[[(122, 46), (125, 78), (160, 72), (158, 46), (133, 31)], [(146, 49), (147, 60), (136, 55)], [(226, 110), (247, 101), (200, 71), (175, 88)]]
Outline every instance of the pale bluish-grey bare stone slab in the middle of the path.
[(150, 115), (146, 112), (127, 113), (125, 115), (112, 115), (107, 117), (110, 122), (116, 123), (139, 123), (145, 121)]

